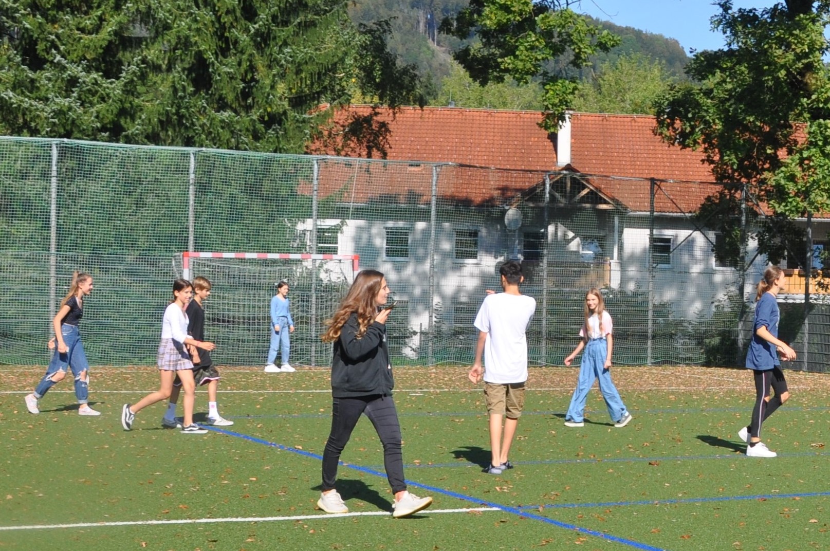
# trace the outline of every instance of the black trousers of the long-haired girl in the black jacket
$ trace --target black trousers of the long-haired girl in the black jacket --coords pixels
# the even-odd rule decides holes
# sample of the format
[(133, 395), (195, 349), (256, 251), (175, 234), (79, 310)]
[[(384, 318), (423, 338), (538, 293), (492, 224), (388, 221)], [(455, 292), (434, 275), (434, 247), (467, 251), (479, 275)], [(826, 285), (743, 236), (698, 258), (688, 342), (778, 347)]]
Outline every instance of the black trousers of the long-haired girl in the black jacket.
[(338, 398), (331, 403), (331, 433), (323, 451), (323, 491), (334, 488), (337, 479), (337, 464), (360, 414), (365, 413), (378, 432), (383, 443), (383, 466), (392, 491), (398, 493), (407, 489), (403, 481), (403, 453), (401, 452), (401, 425), (398, 411), (391, 396)]

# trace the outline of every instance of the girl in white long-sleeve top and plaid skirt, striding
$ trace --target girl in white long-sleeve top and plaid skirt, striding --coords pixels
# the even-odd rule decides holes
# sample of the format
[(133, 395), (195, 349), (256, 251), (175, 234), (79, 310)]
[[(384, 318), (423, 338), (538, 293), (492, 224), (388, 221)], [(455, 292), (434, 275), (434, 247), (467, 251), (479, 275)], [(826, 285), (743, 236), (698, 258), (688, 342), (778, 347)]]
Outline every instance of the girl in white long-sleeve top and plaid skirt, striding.
[(173, 380), (178, 374), (184, 391), (182, 432), (186, 434), (204, 434), (207, 432), (207, 429), (203, 429), (193, 422), (196, 383), (193, 380), (193, 361), (187, 347), (189, 345), (203, 350), (212, 350), (216, 348), (216, 345), (188, 336), (188, 315), (185, 310), (192, 298), (193, 285), (190, 281), (173, 281), (173, 301), (168, 305), (167, 310), (164, 310), (159, 354), (156, 357), (159, 364), (161, 385), (159, 390), (149, 393), (133, 406), (130, 406), (129, 403), (124, 404), (124, 407), (121, 408), (121, 425), (125, 431), (129, 431), (133, 427), (136, 413), (144, 407), (170, 397), (170, 393), (173, 391)]

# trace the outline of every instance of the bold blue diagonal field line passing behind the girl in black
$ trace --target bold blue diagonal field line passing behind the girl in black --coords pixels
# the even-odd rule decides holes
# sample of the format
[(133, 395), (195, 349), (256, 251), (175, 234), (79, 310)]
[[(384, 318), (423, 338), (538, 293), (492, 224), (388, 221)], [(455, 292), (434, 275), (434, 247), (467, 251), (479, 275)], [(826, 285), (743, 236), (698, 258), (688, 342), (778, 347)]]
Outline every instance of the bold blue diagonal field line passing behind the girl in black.
[[(317, 461), (323, 461), (323, 456), (320, 456), (319, 454), (316, 454), (316, 453), (312, 453), (310, 451), (300, 450), (300, 449), (297, 449), (295, 447), (290, 447), (290, 446), (283, 446), (282, 444), (277, 444), (276, 442), (263, 440), (261, 438), (257, 438), (256, 436), (248, 436), (248, 435), (242, 434), (240, 432), (227, 431), (225, 429), (221, 429), (221, 428), (217, 428), (217, 427), (205, 426), (205, 428), (207, 428), (208, 430), (210, 430), (212, 432), (221, 432), (222, 434), (226, 434), (227, 436), (236, 436), (237, 438), (242, 438), (242, 440), (255, 442), (256, 444), (262, 444), (264, 446), (273, 447), (273, 448), (276, 448), (276, 449), (282, 450), (282, 451), (291, 451), (291, 453), (295, 453), (295, 454), (300, 455), (300, 456), (309, 457), (309, 458), (315, 459)], [(363, 472), (367, 475), (374, 475), (374, 476), (381, 477), (383, 479), (386, 478), (386, 473), (381, 472), (381, 471), (376, 471), (376, 470), (370, 469), (368, 467), (351, 465), (349, 463), (344, 463), (343, 461), (340, 461), (339, 465), (348, 467), (349, 469), (354, 469), (354, 471)], [(471, 495), (459, 494), (457, 492), (453, 492), (453, 491), (450, 491), (450, 490), (444, 490), (443, 488), (438, 488), (437, 486), (420, 484), (418, 482), (413, 482), (411, 480), (407, 480), (406, 482), (407, 482), (407, 485), (414, 486), (416, 488), (422, 488), (423, 490), (427, 490), (427, 491), (430, 491), (430, 492), (435, 493), (435, 494), (442, 494), (442, 495), (446, 495), (447, 497), (455, 498), (457, 500), (469, 501), (469, 502), (475, 503), (477, 505), (482, 505), (482, 506), (485, 506), (485, 507), (492, 507), (494, 509), (505, 511), (505, 513), (515, 514), (515, 515), (518, 515), (520, 517), (524, 517), (526, 519), (539, 520), (540, 522), (544, 522), (545, 524), (553, 524), (554, 526), (557, 526), (557, 527), (562, 528), (562, 529), (572, 530), (574, 532), (579, 532), (580, 534), (587, 534), (587, 535), (590, 535), (590, 536), (594, 536), (596, 538), (605, 539), (606, 541), (611, 541), (611, 542), (614, 542), (614, 543), (617, 543), (617, 544), (627, 545), (627, 546), (632, 547), (634, 549), (642, 549), (642, 551), (666, 551), (666, 549), (662, 549), (662, 548), (659, 548), (659, 547), (653, 547), (652, 545), (648, 545), (648, 544), (642, 544), (640, 542), (634, 541), (633, 539), (618, 538), (617, 536), (613, 536), (611, 534), (605, 534), (604, 532), (599, 532), (598, 530), (583, 528), (581, 526), (577, 526), (576, 524), (569, 524), (569, 523), (560, 522), (559, 520), (549, 519), (547, 517), (541, 516), (540, 514), (533, 514), (533, 513), (529, 513), (527, 511), (521, 510), (518, 507), (510, 507), (510, 506), (501, 505), (500, 503), (495, 503), (495, 502), (492, 502), (492, 501), (480, 500), (476, 497), (472, 497)]]

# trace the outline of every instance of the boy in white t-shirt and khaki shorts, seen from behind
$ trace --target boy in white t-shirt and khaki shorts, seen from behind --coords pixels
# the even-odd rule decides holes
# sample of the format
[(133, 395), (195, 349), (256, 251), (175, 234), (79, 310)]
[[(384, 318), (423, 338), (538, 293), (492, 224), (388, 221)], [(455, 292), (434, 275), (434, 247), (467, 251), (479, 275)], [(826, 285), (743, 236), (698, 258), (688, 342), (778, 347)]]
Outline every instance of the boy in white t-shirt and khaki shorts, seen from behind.
[[(522, 295), (519, 284), (525, 280), (521, 264), (507, 261), (501, 265), (503, 293), (487, 295), (476, 315), (480, 331), (476, 359), (467, 375), (473, 383), (481, 381), (481, 357), (484, 356), (484, 395), (490, 417), (491, 462), (485, 472), (500, 475), (513, 466), (507, 460), (516, 425), (525, 406), (527, 381), (527, 338), (525, 331), (536, 311), (536, 300)], [(492, 291), (488, 291), (492, 293)], [(501, 421), (505, 416), (504, 432)], [(503, 438), (502, 438), (503, 434)]]

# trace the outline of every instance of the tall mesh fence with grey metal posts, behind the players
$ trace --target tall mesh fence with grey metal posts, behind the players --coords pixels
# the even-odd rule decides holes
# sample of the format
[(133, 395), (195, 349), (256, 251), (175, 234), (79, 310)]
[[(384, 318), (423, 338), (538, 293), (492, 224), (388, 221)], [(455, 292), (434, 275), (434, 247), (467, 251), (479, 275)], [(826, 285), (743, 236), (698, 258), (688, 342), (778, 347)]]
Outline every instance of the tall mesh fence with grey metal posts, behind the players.
[[(713, 253), (720, 234), (692, 215), (718, 189), (2, 138), (0, 362), (46, 363), (51, 317), (71, 272), (81, 270), (95, 278), (81, 329), (90, 362), (153, 363), (181, 254), (214, 251), (358, 255), (360, 267), (387, 275), (398, 300), (388, 327), (398, 363), (470, 363), (485, 291), (498, 289), (502, 261), (520, 258), (524, 292), (537, 301), (532, 363), (562, 363), (576, 344), (585, 292), (598, 287), (614, 319), (615, 363), (740, 365), (764, 259), (751, 240), (739, 263)], [(317, 338), (350, 269), (223, 258), (194, 265), (191, 275), (200, 271), (214, 285), (205, 306), (217, 363), (265, 363), (277, 279), (291, 285), (292, 363), (328, 363)], [(822, 292), (782, 298), (781, 331), (800, 353), (793, 367), (823, 370), (827, 345), (814, 344), (830, 333)]]

